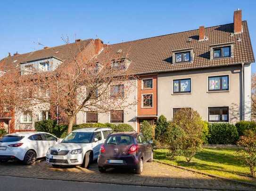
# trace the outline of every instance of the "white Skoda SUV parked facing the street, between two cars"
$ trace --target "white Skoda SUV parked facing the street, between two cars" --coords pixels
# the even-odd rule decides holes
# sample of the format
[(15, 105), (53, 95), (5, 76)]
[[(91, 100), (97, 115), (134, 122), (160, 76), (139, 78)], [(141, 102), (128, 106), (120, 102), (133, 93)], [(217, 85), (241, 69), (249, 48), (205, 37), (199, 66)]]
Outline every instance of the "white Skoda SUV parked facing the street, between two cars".
[(97, 160), (100, 145), (112, 132), (108, 128), (84, 128), (74, 130), (58, 145), (49, 148), (46, 161), (53, 166), (82, 165), (88, 168)]

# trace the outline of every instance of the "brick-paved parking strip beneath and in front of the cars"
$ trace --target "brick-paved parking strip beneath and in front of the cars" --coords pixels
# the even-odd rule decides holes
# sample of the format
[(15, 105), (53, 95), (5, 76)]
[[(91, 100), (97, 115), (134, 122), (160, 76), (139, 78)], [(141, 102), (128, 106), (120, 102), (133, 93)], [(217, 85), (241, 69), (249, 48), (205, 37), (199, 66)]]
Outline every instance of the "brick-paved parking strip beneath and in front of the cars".
[(45, 160), (37, 161), (30, 166), (8, 162), (0, 164), (0, 175), (174, 188), (255, 190), (255, 187), (198, 175), (157, 162), (146, 163), (141, 175), (134, 175), (127, 170), (110, 170), (102, 174), (98, 171), (97, 163), (93, 163), (89, 169), (85, 169), (81, 167), (53, 168)]

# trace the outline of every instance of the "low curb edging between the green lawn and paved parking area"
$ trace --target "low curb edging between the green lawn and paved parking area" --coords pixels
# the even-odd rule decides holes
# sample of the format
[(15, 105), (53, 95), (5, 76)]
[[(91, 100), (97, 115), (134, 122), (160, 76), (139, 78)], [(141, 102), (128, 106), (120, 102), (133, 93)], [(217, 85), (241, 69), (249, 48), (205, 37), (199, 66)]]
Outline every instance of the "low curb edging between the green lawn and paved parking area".
[(198, 170), (194, 170), (194, 169), (191, 169), (191, 168), (185, 168), (185, 167), (176, 166), (176, 165), (173, 165), (173, 164), (168, 164), (168, 163), (165, 163), (165, 162), (161, 162), (159, 160), (154, 160), (154, 162), (158, 162), (160, 164), (165, 164), (165, 165), (175, 167), (175, 168), (181, 168), (183, 170), (194, 172), (194, 173), (197, 173), (197, 174), (200, 174), (200, 175), (209, 176), (209, 177), (212, 177), (212, 178), (219, 178), (219, 179), (223, 179), (223, 180), (230, 181), (230, 182), (233, 182), (233, 183), (240, 183), (240, 184), (244, 184), (244, 185), (247, 185), (247, 186), (256, 187), (256, 184), (254, 184), (254, 183), (247, 183), (247, 182), (243, 182), (243, 181), (239, 181), (239, 180), (233, 180), (233, 179), (225, 178), (223, 176), (212, 175), (212, 174), (208, 174), (208, 173), (205, 173), (205, 172), (200, 172)]

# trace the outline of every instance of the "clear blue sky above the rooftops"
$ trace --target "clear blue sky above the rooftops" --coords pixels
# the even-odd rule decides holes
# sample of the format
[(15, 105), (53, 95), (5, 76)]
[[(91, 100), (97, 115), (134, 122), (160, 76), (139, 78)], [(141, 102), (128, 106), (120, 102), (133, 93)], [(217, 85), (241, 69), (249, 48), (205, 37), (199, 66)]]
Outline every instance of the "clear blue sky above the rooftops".
[[(242, 9), (256, 53), (256, 0), (4, 0), (0, 58), (64, 44), (61, 36), (118, 43), (233, 22)], [(253, 65), (253, 72), (256, 66)]]

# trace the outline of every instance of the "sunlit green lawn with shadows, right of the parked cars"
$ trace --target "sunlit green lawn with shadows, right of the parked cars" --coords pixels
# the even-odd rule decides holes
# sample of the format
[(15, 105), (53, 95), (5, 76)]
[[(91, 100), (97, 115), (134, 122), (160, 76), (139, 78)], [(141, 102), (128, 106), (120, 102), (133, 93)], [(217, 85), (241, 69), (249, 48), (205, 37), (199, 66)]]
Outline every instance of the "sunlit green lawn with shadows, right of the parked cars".
[(170, 160), (166, 156), (167, 153), (167, 149), (157, 149), (154, 151), (154, 159), (176, 166), (193, 168), (212, 175), (256, 183), (256, 178), (249, 177), (249, 168), (236, 160), (236, 149), (203, 148), (190, 162), (186, 162), (182, 156)]

